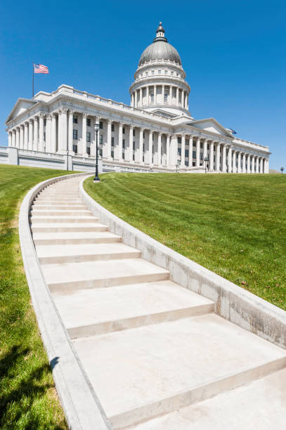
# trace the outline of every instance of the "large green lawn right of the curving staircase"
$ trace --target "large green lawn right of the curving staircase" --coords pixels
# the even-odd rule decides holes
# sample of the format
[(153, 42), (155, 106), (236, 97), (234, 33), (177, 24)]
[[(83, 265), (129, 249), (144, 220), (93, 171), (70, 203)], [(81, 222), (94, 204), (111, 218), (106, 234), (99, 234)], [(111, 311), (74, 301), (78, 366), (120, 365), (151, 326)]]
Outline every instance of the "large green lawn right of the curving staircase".
[(132, 226), (286, 310), (286, 175), (111, 173), (84, 187)]

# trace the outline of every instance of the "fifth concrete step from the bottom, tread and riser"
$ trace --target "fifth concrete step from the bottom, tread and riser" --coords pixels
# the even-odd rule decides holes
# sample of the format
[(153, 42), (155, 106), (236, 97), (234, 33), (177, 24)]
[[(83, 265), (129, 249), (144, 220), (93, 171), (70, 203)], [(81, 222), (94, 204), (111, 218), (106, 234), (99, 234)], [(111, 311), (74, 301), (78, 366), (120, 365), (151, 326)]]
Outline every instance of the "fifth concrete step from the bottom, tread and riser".
[(136, 259), (141, 256), (141, 251), (123, 243), (38, 245), (36, 251), (40, 264)]

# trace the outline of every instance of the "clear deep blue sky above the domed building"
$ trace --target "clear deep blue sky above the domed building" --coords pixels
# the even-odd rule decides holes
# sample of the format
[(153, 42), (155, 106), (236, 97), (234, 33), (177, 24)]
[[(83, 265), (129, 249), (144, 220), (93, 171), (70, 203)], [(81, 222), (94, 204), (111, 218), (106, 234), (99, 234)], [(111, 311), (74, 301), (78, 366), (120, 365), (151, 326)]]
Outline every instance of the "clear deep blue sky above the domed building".
[(159, 20), (181, 56), (196, 119), (214, 117), (269, 145), (286, 168), (285, 1), (2, 1), (0, 145), (18, 97), (60, 84), (129, 104), (129, 85)]

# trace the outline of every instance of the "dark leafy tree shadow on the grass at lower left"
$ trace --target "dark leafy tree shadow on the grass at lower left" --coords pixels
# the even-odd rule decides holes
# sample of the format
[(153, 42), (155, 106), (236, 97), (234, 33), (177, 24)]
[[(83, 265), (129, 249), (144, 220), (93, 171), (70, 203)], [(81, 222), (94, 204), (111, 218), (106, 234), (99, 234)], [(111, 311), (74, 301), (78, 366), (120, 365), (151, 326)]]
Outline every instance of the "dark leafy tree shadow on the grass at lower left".
[[(2, 386), (0, 390), (0, 428), (8, 428), (8, 421), (11, 422), (13, 417), (13, 425), (19, 428), (17, 423), (22, 420), (25, 415), (25, 427), (20, 425), (20, 428), (38, 429), (42, 428), (42, 417), (40, 411), (33, 413), (32, 405), (34, 400), (46, 395), (48, 389), (53, 389), (53, 382), (50, 384), (43, 380), (44, 374), (51, 372), (58, 363), (58, 357), (51, 360), (51, 366), (48, 364), (40, 365), (36, 369), (32, 369), (27, 376), (22, 378), (11, 389), (7, 388), (7, 379), (13, 380), (14, 372), (18, 372), (19, 365), (25, 356), (30, 353), (30, 349), (22, 348), (20, 345), (14, 345), (10, 351), (4, 354), (0, 359), (0, 381), (5, 381), (6, 386)], [(27, 364), (28, 366), (28, 364)], [(5, 384), (5, 382), (4, 382)], [(6, 388), (6, 389), (4, 389)], [(63, 429), (63, 427), (53, 427), (55, 430)]]

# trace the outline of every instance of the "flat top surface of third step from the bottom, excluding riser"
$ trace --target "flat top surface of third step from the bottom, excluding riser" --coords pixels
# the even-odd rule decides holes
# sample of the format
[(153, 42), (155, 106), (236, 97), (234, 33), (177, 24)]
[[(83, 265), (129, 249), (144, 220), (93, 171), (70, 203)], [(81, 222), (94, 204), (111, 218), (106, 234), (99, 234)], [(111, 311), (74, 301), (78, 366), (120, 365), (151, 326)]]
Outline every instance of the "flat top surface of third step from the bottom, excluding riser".
[(170, 280), (55, 293), (53, 299), (67, 328), (213, 305)]

